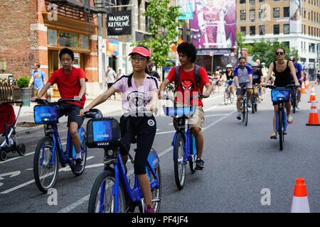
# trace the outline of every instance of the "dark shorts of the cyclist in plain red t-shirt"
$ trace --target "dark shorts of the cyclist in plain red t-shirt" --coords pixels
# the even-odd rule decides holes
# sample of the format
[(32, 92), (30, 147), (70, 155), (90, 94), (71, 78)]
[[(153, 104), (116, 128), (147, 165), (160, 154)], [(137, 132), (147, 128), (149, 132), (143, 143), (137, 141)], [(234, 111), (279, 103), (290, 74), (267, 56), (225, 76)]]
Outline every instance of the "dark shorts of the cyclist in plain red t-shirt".
[(70, 125), (70, 122), (78, 123), (78, 128), (82, 126), (82, 123), (85, 120), (85, 118), (80, 117), (79, 114), (80, 114), (80, 106), (76, 106), (74, 104), (68, 104), (68, 103), (60, 104), (59, 118), (62, 117), (63, 115), (68, 116), (68, 127)]

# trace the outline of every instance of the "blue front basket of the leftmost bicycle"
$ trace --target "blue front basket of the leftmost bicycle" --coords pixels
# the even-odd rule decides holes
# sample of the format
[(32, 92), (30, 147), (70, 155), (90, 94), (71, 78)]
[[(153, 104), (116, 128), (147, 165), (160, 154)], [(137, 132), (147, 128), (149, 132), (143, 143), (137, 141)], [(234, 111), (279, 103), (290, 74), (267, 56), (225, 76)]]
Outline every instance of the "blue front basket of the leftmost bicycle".
[(36, 105), (33, 107), (35, 123), (58, 123), (59, 107), (56, 105)]

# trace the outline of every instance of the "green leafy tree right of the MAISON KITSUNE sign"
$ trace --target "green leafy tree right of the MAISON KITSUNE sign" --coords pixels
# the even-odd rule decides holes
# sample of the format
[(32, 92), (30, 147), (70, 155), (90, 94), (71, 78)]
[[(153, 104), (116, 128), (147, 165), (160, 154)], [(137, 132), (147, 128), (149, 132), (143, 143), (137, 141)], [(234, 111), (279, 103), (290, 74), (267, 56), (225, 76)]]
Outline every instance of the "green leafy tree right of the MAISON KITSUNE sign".
[(149, 0), (148, 7), (144, 12), (150, 20), (149, 33), (151, 38), (146, 38), (135, 45), (145, 45), (152, 50), (152, 62), (156, 67), (166, 65), (169, 50), (172, 45), (177, 45), (176, 38), (179, 35), (178, 27), (182, 21), (178, 21), (181, 13), (180, 6), (170, 6), (170, 0)]

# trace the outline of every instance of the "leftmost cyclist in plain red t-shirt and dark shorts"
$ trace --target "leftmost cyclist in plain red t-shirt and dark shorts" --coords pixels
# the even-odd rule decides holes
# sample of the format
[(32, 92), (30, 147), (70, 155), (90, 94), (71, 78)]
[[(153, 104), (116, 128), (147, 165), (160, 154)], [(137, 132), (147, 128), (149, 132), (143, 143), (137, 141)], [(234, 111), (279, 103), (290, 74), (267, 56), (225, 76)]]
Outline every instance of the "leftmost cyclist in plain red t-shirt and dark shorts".
[(63, 65), (62, 68), (56, 70), (51, 74), (46, 85), (41, 89), (37, 96), (33, 96), (31, 101), (41, 99), (43, 94), (46, 94), (51, 85), (57, 84), (62, 99), (75, 99), (78, 102), (65, 102), (60, 105), (59, 117), (68, 115), (68, 128), (71, 135), (73, 145), (75, 146), (75, 172), (82, 170), (83, 160), (80, 154), (80, 137), (78, 135), (78, 128), (82, 125), (85, 118), (80, 117), (80, 109), (85, 105), (85, 82), (87, 82), (87, 76), (85, 72), (73, 67), (73, 60), (75, 55), (72, 50), (63, 48), (59, 53), (60, 62)]

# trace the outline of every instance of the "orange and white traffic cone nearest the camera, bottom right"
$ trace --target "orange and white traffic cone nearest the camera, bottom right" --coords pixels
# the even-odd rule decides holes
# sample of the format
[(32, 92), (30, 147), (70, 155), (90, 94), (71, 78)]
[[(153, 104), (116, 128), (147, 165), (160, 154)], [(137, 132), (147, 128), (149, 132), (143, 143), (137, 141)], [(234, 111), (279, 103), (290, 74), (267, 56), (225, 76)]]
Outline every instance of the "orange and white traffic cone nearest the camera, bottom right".
[(306, 184), (304, 178), (297, 178), (294, 186), (294, 196), (292, 200), (291, 213), (310, 213)]

